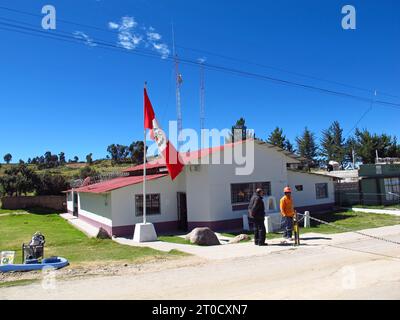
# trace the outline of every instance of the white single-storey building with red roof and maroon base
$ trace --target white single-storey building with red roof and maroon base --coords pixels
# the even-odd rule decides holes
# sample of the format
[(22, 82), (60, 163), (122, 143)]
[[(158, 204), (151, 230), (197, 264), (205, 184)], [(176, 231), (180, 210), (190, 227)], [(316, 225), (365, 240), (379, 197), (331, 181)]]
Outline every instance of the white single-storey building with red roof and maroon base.
[[(237, 175), (235, 164), (208, 164), (210, 157), (221, 158), (245, 143), (202, 149), (185, 156), (183, 172), (171, 181), (165, 165), (147, 164), (147, 221), (157, 232), (191, 230), (208, 226), (214, 231), (242, 228), (249, 199), (262, 187), (277, 202), (285, 186), (293, 189), (298, 212), (318, 212), (334, 205), (333, 179), (329, 176), (295, 171), (299, 157), (255, 141), (254, 170)], [(201, 159), (201, 164), (193, 164)], [(206, 161), (205, 161), (206, 160)], [(135, 223), (142, 222), (142, 169), (125, 170), (129, 176), (68, 191), (68, 211), (109, 234), (133, 234)]]

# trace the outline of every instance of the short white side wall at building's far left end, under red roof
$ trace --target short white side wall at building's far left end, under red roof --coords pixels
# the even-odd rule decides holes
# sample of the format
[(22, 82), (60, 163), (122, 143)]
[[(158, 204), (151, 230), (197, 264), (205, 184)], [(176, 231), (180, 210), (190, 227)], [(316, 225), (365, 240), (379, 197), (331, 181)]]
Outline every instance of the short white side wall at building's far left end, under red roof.
[(110, 193), (80, 192), (78, 194), (78, 215), (111, 226), (111, 207), (112, 199)]

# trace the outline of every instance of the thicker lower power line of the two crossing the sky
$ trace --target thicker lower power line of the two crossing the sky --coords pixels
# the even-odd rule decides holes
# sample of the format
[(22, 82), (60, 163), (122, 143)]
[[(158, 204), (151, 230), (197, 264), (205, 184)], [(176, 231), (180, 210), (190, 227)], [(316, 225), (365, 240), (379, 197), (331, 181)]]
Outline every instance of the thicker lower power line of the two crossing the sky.
[[(34, 28), (28, 28), (28, 27), (25, 27), (25, 26), (15, 25), (15, 24), (5, 23), (5, 22), (0, 22), (0, 25), (5, 25), (7, 28), (3, 28), (3, 30), (7, 30), (7, 31), (16, 31), (13, 28), (17, 28), (20, 31), (19, 33), (25, 33), (25, 34), (29, 34), (29, 35), (34, 35), (34, 34), (32, 34), (32, 32), (33, 32), (33, 33), (38, 33), (38, 35), (41, 35), (42, 37), (45, 37), (45, 38), (47, 37), (49, 39), (70, 40), (69, 42), (73, 41), (75, 43), (78, 42), (80, 44), (85, 44), (85, 40), (84, 39), (77, 39), (76, 37), (67, 35), (68, 33), (66, 33), (66, 32), (64, 32), (64, 34), (60, 34), (59, 32), (51, 32), (51, 33), (49, 33), (47, 31), (38, 30), (38, 29), (34, 29)], [(26, 31), (29, 31), (29, 32), (26, 32)], [(154, 53), (154, 52), (151, 52), (151, 51), (148, 51), (148, 50), (136, 49), (135, 51), (127, 51), (124, 47), (109, 43), (107, 41), (96, 40), (96, 41), (93, 41), (93, 44), (95, 44), (97, 46), (100, 46), (100, 47), (117, 49), (119, 51), (123, 51), (123, 52), (130, 53), (130, 54), (153, 57), (153, 58), (156, 57), (157, 59), (160, 58), (157, 53)], [(170, 61), (172, 60), (172, 61), (174, 61), (174, 57), (169, 57), (168, 56), (164, 60), (170, 60)], [(198, 66), (199, 65), (199, 62), (196, 61), (196, 60), (180, 58), (179, 61), (180, 61), (180, 63), (187, 64), (187, 65), (193, 65), (193, 66)], [(351, 99), (355, 99), (355, 100), (359, 100), (359, 101), (363, 101), (363, 102), (371, 103), (371, 101), (372, 101), (369, 98), (356, 96), (356, 95), (353, 95), (353, 94), (350, 94), (350, 93), (346, 93), (346, 92), (340, 92), (340, 91), (325, 89), (325, 88), (321, 88), (321, 87), (317, 87), (317, 86), (313, 86), (313, 85), (307, 85), (307, 84), (303, 84), (303, 83), (299, 83), (299, 82), (284, 80), (284, 79), (275, 78), (275, 77), (271, 77), (271, 76), (267, 76), (267, 75), (263, 75), (263, 74), (257, 74), (257, 73), (253, 73), (253, 72), (249, 72), (249, 71), (233, 69), (233, 68), (224, 67), (224, 66), (220, 66), (220, 65), (214, 65), (214, 64), (205, 63), (205, 62), (203, 62), (203, 66), (205, 68), (209, 69), (209, 70), (214, 70), (214, 71), (219, 71), (219, 72), (224, 72), (224, 73), (229, 73), (229, 74), (235, 74), (235, 75), (238, 75), (238, 76), (244, 76), (244, 77), (248, 77), (248, 78), (252, 78), (252, 79), (275, 82), (275, 83), (279, 83), (279, 84), (287, 85), (287, 86), (300, 87), (300, 88), (303, 88), (303, 89), (318, 91), (320, 93), (325, 93), (325, 94), (330, 94), (330, 95), (335, 95), (335, 96), (342, 96), (342, 97), (351, 98)], [(388, 101), (381, 101), (381, 100), (376, 100), (376, 101), (374, 101), (374, 103), (375, 104), (380, 104), (380, 105), (386, 106), (386, 107), (396, 108), (398, 110), (400, 109), (400, 104), (398, 104), (398, 103), (393, 103), (393, 102), (388, 102)]]

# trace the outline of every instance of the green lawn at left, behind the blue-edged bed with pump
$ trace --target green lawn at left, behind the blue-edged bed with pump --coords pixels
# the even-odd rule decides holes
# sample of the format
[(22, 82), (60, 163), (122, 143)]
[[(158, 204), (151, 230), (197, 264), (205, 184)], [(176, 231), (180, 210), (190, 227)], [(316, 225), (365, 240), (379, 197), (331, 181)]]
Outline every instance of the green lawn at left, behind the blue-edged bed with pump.
[(21, 245), (28, 243), (36, 231), (46, 237), (46, 257), (62, 256), (70, 264), (132, 262), (182, 255), (176, 251), (166, 253), (146, 247), (121, 245), (112, 240), (87, 238), (54, 213), (0, 216), (0, 251), (16, 251), (15, 263), (20, 263)]

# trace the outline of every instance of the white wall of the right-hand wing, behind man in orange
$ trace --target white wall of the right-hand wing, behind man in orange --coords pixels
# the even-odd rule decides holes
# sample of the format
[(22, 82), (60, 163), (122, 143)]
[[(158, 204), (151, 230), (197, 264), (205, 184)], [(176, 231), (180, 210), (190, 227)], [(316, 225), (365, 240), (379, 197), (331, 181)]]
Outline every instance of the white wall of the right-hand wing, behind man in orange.
[[(292, 195), (296, 207), (319, 205), (335, 202), (335, 191), (333, 178), (308, 174), (302, 172), (288, 171), (289, 186), (292, 188)], [(328, 198), (317, 199), (315, 184), (328, 183)], [(303, 191), (296, 191), (296, 185), (303, 185)]]

